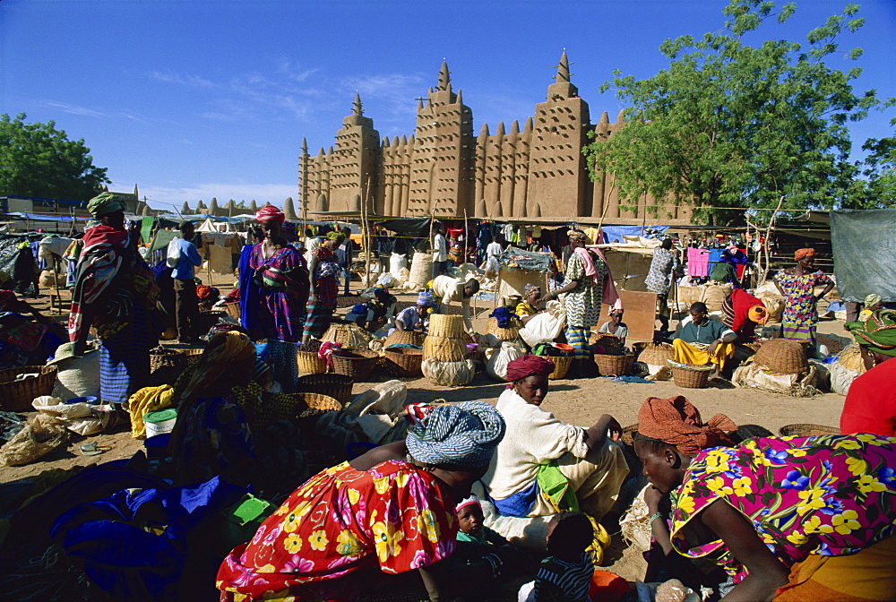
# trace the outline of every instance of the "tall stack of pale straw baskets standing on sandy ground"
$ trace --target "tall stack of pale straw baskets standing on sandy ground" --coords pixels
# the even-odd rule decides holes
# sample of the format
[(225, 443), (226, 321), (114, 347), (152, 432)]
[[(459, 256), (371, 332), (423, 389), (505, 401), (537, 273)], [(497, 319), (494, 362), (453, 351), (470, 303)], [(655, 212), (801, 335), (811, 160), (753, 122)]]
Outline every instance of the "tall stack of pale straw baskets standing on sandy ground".
[(460, 315), (430, 316), (429, 334), (423, 341), (423, 362), (420, 365), (423, 374), (435, 384), (444, 386), (470, 383), (476, 369), (467, 359), (469, 341)]

